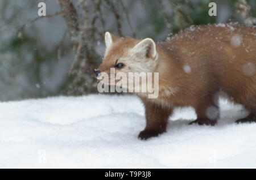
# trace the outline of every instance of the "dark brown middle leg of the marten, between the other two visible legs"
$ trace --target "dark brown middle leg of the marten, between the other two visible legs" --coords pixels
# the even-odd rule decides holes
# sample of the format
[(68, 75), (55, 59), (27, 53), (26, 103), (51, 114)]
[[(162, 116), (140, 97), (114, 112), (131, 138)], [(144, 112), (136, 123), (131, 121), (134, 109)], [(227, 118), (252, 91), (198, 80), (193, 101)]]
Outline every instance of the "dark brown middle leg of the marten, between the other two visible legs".
[(214, 103), (212, 99), (203, 101), (201, 104), (195, 107), (197, 119), (189, 123), (198, 123), (199, 125), (211, 125), (214, 126), (217, 123), (217, 119), (220, 117), (218, 105)]

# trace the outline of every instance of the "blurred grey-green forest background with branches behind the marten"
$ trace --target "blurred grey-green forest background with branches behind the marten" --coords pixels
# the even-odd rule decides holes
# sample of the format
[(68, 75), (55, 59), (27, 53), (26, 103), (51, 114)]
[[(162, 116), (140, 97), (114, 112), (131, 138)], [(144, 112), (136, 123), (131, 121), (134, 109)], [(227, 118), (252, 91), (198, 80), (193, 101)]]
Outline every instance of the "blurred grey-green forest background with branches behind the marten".
[(253, 25), (255, 17), (255, 0), (0, 0), (0, 101), (97, 93), (105, 31), (164, 41), (191, 24)]

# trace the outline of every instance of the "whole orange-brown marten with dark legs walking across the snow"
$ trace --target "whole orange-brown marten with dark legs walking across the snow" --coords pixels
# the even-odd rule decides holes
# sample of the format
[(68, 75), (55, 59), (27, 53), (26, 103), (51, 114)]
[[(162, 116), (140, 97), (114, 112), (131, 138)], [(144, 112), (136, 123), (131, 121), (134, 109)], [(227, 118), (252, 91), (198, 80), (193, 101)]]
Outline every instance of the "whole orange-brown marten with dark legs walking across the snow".
[(105, 43), (104, 60), (94, 72), (97, 79), (102, 72), (110, 75), (110, 68), (115, 74), (159, 73), (158, 98), (136, 93), (146, 109), (146, 128), (139, 138), (165, 132), (168, 117), (180, 106), (195, 108), (197, 119), (191, 123), (215, 125), (218, 96), (224, 93), (250, 112), (237, 123), (256, 122), (256, 27), (192, 26), (158, 43), (106, 32)]

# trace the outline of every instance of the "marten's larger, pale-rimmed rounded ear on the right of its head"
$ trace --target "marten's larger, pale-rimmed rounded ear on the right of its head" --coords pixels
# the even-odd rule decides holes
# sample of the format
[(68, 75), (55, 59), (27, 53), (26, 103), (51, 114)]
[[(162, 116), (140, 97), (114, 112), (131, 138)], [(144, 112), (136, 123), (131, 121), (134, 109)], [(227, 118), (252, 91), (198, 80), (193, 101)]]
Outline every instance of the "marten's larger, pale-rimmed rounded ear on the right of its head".
[(157, 59), (158, 57), (155, 42), (151, 38), (144, 38), (144, 40), (134, 46), (134, 50), (136, 53), (145, 55), (146, 58)]

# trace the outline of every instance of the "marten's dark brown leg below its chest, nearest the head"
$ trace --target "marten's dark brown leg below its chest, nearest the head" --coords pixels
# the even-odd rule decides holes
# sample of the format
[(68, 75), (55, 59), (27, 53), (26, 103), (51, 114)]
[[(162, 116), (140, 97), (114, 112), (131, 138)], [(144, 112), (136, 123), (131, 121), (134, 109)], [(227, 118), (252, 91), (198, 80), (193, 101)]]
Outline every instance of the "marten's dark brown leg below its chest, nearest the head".
[(144, 102), (146, 109), (146, 128), (139, 133), (138, 138), (146, 140), (166, 132), (168, 117), (172, 113), (171, 108)]

